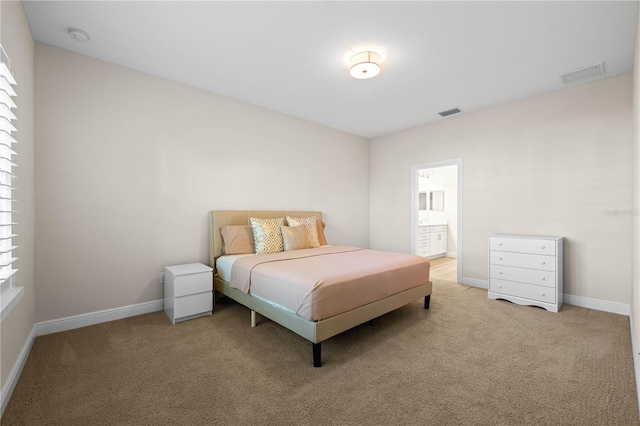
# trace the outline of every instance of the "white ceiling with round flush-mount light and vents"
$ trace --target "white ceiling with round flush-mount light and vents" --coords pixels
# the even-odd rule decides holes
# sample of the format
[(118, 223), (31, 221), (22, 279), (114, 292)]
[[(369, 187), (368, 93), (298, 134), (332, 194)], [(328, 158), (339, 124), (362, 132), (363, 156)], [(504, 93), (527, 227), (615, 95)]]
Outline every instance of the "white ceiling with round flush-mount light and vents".
[[(637, 1), (23, 4), (37, 41), (366, 138), (558, 90), (600, 61), (600, 78), (631, 72), (638, 22)], [(383, 56), (371, 80), (347, 69), (363, 49)]]

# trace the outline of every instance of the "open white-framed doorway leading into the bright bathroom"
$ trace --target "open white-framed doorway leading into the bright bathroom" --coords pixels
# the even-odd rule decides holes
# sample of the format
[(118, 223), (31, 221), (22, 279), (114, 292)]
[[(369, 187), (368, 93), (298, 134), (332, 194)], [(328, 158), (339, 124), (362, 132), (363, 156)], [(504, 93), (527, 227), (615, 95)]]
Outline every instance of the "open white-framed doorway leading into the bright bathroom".
[(462, 159), (411, 166), (412, 252), (431, 277), (462, 281)]

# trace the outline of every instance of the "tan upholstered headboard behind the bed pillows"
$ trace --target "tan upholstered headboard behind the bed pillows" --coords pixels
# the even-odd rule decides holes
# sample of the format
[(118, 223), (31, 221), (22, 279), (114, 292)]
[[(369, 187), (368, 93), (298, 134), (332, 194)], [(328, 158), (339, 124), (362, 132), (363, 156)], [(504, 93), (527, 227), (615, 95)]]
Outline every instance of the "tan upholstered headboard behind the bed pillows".
[(211, 210), (209, 212), (209, 266), (216, 268), (216, 259), (222, 256), (222, 234), (220, 229), (226, 225), (250, 225), (250, 217), (261, 219), (275, 219), (287, 216), (310, 217), (322, 221), (322, 212), (312, 211), (276, 211), (276, 210)]

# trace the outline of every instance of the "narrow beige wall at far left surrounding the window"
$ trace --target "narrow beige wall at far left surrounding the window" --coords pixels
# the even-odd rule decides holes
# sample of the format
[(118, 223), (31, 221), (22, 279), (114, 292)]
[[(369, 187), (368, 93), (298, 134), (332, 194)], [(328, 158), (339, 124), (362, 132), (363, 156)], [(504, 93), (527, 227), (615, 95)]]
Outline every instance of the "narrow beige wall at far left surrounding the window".
[(18, 129), (15, 137), (18, 144), (14, 150), (18, 153), (15, 163), (16, 175), (16, 225), (18, 249), (14, 252), (19, 260), (16, 267), (16, 285), (24, 287), (24, 296), (9, 316), (2, 322), (1, 328), (1, 368), (2, 387), (18, 355), (35, 324), (35, 284), (34, 284), (34, 46), (22, 3), (3, 1), (0, 3), (1, 25), (0, 42), (11, 59), (11, 68), (18, 83), (15, 99), (18, 108), (15, 114)]

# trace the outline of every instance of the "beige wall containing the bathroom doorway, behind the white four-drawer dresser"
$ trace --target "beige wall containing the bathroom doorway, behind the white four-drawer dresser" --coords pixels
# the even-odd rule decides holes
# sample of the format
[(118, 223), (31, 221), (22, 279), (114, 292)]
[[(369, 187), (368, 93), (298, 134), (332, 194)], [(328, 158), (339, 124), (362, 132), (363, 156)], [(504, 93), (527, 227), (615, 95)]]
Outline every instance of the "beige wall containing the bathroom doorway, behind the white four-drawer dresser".
[(487, 280), (489, 234), (561, 235), (564, 292), (630, 304), (631, 87), (625, 74), (374, 139), (371, 247), (410, 252), (411, 165), (462, 158), (463, 277)]

